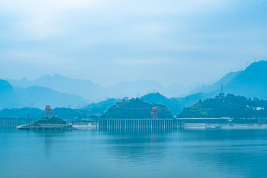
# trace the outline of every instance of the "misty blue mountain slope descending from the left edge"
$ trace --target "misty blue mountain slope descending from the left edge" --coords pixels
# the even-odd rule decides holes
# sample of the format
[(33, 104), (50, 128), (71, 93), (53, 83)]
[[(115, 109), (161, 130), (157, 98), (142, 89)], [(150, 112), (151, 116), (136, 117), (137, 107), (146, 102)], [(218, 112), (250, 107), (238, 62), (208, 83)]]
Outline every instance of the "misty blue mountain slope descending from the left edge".
[(78, 107), (81, 103), (89, 103), (88, 99), (81, 96), (60, 93), (46, 87), (12, 87), (5, 80), (0, 80), (0, 101), (1, 109), (25, 106), (44, 108), (47, 104), (53, 107)]

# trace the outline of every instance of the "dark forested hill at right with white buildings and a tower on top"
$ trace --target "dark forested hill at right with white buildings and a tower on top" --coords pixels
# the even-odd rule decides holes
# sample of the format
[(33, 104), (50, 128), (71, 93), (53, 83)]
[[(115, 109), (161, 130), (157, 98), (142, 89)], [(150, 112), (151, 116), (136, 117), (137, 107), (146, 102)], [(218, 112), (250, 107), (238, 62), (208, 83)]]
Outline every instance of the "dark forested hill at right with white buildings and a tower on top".
[(178, 118), (266, 118), (267, 101), (227, 94), (216, 96), (184, 108)]

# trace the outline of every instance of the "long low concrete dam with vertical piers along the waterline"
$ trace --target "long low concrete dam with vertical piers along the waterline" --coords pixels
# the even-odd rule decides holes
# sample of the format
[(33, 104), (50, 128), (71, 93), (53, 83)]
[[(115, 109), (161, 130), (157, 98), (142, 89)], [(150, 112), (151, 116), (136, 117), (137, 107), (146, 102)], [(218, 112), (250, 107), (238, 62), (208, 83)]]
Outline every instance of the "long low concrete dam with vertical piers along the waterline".
[[(40, 118), (0, 118), (0, 127), (33, 124)], [(63, 119), (74, 124), (75, 119)], [(267, 119), (255, 118), (174, 118), (174, 119), (95, 119), (99, 130), (169, 130), (169, 129), (267, 129)]]

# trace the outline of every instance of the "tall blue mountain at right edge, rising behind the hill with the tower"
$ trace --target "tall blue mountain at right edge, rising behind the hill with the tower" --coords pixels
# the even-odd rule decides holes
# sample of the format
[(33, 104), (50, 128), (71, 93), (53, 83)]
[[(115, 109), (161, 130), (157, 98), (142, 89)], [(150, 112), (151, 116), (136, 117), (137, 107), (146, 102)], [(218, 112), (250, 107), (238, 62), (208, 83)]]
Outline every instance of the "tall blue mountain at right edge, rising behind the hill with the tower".
[[(221, 92), (223, 84), (224, 93), (233, 93), (245, 97), (258, 97), (267, 99), (267, 61), (254, 62), (244, 71), (230, 72), (213, 85), (205, 86), (204, 92), (210, 97)], [(191, 91), (195, 93), (196, 90)], [(202, 98), (199, 98), (202, 99)]]

